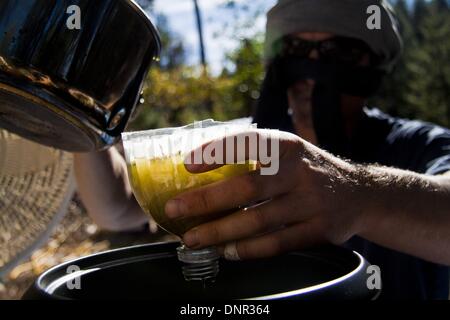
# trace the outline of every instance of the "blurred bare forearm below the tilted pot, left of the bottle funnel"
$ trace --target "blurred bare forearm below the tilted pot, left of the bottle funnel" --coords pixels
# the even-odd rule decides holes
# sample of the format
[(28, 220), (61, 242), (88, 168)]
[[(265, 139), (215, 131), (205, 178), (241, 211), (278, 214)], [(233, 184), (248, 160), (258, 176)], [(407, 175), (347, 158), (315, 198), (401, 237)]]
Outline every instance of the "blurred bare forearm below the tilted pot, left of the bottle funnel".
[(101, 228), (122, 231), (145, 223), (128, 182), (125, 160), (116, 148), (75, 154), (74, 165), (80, 198)]

